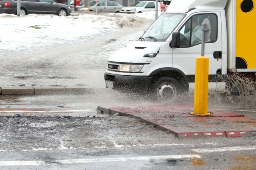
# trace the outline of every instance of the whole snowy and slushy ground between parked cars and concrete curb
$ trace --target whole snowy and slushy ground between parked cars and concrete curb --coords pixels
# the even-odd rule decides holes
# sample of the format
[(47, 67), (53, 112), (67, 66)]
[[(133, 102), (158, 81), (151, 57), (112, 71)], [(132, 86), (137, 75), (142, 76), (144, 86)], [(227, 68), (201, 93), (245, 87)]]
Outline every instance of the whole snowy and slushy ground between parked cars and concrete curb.
[(107, 58), (154, 19), (154, 13), (0, 14), (0, 86), (104, 88)]

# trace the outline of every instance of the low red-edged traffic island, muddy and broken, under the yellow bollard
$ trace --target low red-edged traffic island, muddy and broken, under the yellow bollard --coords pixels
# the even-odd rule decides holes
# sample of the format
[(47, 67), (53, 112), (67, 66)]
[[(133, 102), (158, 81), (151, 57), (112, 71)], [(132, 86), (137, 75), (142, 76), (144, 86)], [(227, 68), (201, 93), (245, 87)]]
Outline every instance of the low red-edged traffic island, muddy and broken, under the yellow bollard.
[[(160, 109), (157, 106), (146, 106), (147, 108), (143, 108), (140, 106), (110, 106), (110, 107), (97, 107), (97, 113), (98, 114), (108, 114), (108, 115), (114, 115), (118, 113), (119, 115), (122, 116), (129, 116), (133, 117), (136, 119), (139, 119), (140, 121), (146, 123), (147, 125), (154, 125), (156, 129), (162, 130), (162, 131), (168, 131), (169, 133), (173, 134), (175, 137), (182, 139), (182, 138), (191, 138), (191, 137), (245, 137), (245, 136), (256, 136), (256, 128), (252, 128), (252, 126), (248, 126), (251, 124), (256, 123), (256, 120), (254, 119), (249, 119), (247, 117), (244, 117), (243, 115), (240, 115), (238, 113), (226, 113), (226, 112), (221, 112), (221, 111), (216, 111), (216, 115), (210, 117), (197, 117), (194, 115), (187, 114), (189, 116), (184, 116), (184, 113), (187, 112), (186, 107), (182, 108), (180, 113), (177, 110), (176, 107), (172, 106), (170, 107), (171, 109), (166, 109), (164, 106), (159, 106)], [(150, 109), (154, 108), (156, 109)], [(182, 106), (178, 106), (182, 107)], [(162, 109), (162, 110), (161, 110)], [(173, 110), (173, 111), (172, 111)], [(174, 113), (174, 114), (173, 114)], [(182, 121), (178, 121), (178, 119), (175, 119), (176, 116), (178, 115), (178, 119)], [(161, 115), (166, 115), (162, 116)], [(186, 114), (185, 114), (186, 115)], [(214, 129), (214, 121), (218, 120), (222, 122), (222, 118), (226, 116), (226, 122), (230, 121), (230, 125), (228, 124), (223, 125), (221, 128), (216, 131)], [(187, 120), (185, 120), (187, 119)], [(196, 119), (197, 124), (194, 126), (193, 122)], [(203, 121), (200, 121), (202, 119)], [(232, 120), (234, 119), (234, 121)], [(241, 119), (238, 121), (238, 119)], [(167, 121), (166, 121), (167, 120)], [(171, 121), (173, 120), (173, 121)], [(192, 131), (187, 131), (188, 129), (191, 128), (184, 128), (186, 126), (186, 122), (190, 123), (190, 125), (193, 125), (194, 129)], [(208, 122), (209, 127), (207, 127), (206, 122)], [(183, 124), (184, 123), (184, 124)], [(241, 129), (244, 130), (238, 130), (240, 128), (235, 128), (233, 127), (234, 125), (232, 123), (236, 123), (236, 126), (240, 127)], [(174, 126), (173, 126), (174, 125)], [(216, 126), (221, 126), (221, 125), (216, 125)], [(177, 131), (176, 128), (173, 127), (179, 127), (181, 129), (180, 131)], [(200, 128), (203, 127), (203, 128)], [(230, 127), (233, 130), (230, 130), (228, 127)], [(250, 130), (248, 130), (248, 128)], [(208, 129), (206, 131), (206, 128)], [(228, 128), (228, 129), (226, 129)], [(203, 129), (203, 130), (202, 130)], [(195, 131), (193, 131), (195, 130)], [(197, 131), (199, 130), (199, 131)]]

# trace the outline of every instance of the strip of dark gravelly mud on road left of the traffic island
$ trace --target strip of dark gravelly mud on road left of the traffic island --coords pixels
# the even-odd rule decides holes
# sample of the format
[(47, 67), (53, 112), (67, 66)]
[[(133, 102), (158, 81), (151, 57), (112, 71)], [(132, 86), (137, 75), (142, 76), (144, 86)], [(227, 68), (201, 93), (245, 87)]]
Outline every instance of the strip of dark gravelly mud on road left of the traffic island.
[(0, 150), (77, 149), (170, 143), (171, 134), (124, 116), (0, 116)]

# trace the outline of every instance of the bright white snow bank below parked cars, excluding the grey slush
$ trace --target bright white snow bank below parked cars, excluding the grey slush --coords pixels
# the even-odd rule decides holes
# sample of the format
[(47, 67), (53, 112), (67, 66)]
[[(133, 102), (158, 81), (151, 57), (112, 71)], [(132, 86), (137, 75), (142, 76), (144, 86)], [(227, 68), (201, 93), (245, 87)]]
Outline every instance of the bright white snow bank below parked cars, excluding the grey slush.
[[(140, 27), (154, 13), (109, 14), (75, 13), (68, 17), (29, 14), (17, 17), (0, 14), (0, 51), (34, 49), (81, 40), (121, 28)], [(130, 29), (132, 31), (132, 29)]]

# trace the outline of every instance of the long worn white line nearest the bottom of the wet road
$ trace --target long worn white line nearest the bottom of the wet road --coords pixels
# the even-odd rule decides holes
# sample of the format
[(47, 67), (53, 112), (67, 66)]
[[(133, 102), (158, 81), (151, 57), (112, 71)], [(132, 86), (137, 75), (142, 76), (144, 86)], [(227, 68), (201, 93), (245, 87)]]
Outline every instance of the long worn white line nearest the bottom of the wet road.
[[(122, 158), (92, 158), (92, 159), (66, 159), (56, 160), (62, 164), (75, 163), (92, 163), (92, 162), (116, 162), (128, 160), (151, 160), (151, 159), (181, 159), (181, 158), (201, 158), (198, 154), (182, 154), (182, 155), (163, 155), (163, 156), (136, 156)], [(0, 161), (0, 166), (40, 166), (45, 165), (43, 161)]]

